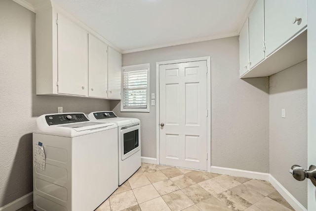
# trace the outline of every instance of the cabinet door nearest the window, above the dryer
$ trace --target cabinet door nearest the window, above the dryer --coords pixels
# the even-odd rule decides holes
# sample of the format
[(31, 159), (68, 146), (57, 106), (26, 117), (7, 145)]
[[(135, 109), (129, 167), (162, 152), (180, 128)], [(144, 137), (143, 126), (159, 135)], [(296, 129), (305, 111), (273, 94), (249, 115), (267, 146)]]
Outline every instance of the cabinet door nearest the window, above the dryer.
[(122, 55), (109, 46), (108, 98), (120, 99)]

